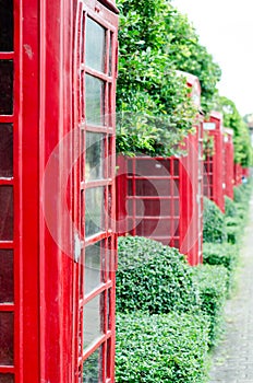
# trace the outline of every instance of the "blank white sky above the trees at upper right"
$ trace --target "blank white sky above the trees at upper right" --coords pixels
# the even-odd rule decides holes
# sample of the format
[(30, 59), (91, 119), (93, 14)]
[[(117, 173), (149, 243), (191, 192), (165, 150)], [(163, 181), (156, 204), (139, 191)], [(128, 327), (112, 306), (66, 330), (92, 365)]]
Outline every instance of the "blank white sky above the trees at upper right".
[(220, 95), (253, 113), (253, 0), (172, 0), (222, 71)]

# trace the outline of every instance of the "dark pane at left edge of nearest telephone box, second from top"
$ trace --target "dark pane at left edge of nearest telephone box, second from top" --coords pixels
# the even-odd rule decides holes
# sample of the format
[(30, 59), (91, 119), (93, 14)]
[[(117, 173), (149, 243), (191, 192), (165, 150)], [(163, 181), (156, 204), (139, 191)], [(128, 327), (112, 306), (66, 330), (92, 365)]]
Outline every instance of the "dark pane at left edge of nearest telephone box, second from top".
[(13, 61), (0, 60), (0, 115), (12, 115)]

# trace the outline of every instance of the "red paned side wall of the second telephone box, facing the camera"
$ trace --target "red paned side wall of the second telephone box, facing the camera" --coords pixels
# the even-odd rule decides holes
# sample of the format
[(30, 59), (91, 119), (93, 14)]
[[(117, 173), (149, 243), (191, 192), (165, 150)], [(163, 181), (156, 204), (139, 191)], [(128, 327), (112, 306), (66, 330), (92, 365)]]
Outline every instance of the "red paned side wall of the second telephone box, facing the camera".
[(118, 156), (118, 232), (180, 246), (180, 161)]

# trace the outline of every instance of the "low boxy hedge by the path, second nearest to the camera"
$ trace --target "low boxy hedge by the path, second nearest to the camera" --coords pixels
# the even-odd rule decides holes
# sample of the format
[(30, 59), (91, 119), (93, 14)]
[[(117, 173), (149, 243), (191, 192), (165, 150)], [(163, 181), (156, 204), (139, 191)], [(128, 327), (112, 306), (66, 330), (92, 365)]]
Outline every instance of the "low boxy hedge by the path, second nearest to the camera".
[(193, 268), (201, 294), (201, 309), (209, 316), (209, 346), (216, 345), (222, 327), (228, 271), (224, 266), (201, 265)]

